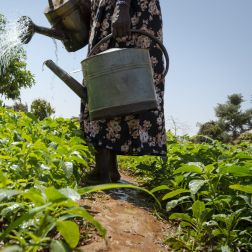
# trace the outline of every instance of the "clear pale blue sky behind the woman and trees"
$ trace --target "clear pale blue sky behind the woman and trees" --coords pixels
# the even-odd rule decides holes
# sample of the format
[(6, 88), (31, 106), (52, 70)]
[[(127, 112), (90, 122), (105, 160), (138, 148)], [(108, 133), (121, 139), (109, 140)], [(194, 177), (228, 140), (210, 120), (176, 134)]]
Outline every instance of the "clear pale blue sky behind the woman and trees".
[[(215, 120), (214, 108), (233, 93), (242, 94), (242, 109), (251, 108), (252, 0), (160, 0), (160, 4), (170, 58), (164, 108), (167, 130), (196, 134), (197, 125)], [(46, 0), (0, 0), (0, 13), (9, 21), (26, 15), (49, 27), (46, 5)], [(82, 73), (73, 72), (81, 69), (87, 48), (69, 53), (61, 42), (35, 34), (24, 49), (36, 84), (22, 90), (22, 102), (30, 106), (42, 98), (54, 107), (54, 116), (78, 116), (79, 98), (43, 62), (52, 59), (81, 82)]]

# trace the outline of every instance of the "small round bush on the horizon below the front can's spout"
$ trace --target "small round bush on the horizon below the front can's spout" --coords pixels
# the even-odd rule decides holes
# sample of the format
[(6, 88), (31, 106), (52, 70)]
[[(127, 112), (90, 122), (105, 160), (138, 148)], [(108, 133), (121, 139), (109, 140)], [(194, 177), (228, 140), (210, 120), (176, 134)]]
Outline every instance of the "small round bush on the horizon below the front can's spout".
[(35, 115), (39, 120), (43, 120), (46, 117), (55, 113), (51, 104), (44, 99), (36, 99), (31, 104), (31, 113)]

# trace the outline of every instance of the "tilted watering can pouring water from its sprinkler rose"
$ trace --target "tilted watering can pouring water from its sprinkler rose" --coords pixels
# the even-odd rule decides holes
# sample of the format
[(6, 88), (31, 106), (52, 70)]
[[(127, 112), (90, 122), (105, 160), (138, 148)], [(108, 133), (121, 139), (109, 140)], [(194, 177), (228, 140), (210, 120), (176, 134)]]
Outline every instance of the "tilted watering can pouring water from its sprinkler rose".
[(69, 52), (74, 52), (88, 44), (90, 24), (90, 0), (48, 0), (44, 14), (52, 28), (35, 25), (29, 17), (19, 19), (28, 27), (22, 34), (23, 43), (28, 43), (34, 33), (59, 39)]

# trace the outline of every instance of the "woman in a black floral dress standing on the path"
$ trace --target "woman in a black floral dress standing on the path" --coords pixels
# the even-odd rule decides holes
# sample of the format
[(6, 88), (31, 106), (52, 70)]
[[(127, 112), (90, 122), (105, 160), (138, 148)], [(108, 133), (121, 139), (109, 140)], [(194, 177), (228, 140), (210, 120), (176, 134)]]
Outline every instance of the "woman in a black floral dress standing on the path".
[(120, 179), (116, 155), (166, 155), (162, 52), (151, 39), (130, 34), (130, 29), (145, 30), (162, 41), (159, 0), (91, 0), (89, 50), (111, 32), (114, 39), (104, 43), (100, 51), (111, 47), (150, 48), (158, 98), (156, 110), (92, 122), (86, 104), (82, 104), (82, 129), (96, 149), (96, 168), (89, 178), (99, 183)]

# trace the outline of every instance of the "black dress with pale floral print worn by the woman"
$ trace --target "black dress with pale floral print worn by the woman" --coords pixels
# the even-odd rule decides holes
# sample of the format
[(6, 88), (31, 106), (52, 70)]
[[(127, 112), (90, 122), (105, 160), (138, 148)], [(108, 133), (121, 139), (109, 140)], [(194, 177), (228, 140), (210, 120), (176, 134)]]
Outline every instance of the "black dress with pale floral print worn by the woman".
[[(115, 2), (116, 0), (91, 0), (89, 50), (111, 33), (111, 18)], [(132, 0), (130, 15), (132, 29), (145, 30), (162, 41), (159, 0)], [(111, 47), (150, 48), (158, 107), (156, 110), (115, 117), (111, 120), (90, 121), (87, 104), (82, 104), (81, 128), (84, 136), (94, 147), (107, 148), (119, 155), (164, 156), (166, 155), (166, 130), (162, 52), (155, 42), (139, 34), (132, 34), (126, 42), (108, 41), (101, 45), (100, 51)]]

